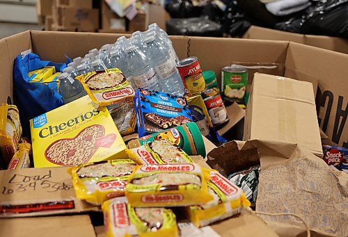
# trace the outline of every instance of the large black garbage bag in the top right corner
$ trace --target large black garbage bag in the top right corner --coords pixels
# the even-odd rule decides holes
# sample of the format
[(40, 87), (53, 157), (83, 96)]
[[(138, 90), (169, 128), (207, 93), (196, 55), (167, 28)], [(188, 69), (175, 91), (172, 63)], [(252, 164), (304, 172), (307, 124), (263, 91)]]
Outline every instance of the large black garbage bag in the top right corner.
[(293, 33), (348, 38), (348, 0), (320, 0), (303, 15), (276, 24), (276, 29)]

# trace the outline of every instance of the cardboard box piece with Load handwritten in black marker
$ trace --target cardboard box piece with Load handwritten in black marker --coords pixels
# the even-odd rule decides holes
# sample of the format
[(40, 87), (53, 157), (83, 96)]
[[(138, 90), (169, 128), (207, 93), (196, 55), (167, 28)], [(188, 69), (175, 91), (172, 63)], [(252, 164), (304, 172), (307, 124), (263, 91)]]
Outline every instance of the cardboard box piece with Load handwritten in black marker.
[(0, 218), (100, 211), (76, 198), (68, 167), (2, 170), (0, 186)]

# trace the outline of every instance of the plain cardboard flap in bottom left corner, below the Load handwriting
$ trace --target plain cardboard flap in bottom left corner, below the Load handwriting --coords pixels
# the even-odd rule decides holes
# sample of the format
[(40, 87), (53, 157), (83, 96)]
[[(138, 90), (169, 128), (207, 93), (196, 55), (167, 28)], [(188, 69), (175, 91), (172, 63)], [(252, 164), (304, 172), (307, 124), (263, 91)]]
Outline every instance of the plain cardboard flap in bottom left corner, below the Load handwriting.
[(93, 237), (95, 231), (88, 215), (17, 218), (0, 220), (0, 236), (84, 236)]

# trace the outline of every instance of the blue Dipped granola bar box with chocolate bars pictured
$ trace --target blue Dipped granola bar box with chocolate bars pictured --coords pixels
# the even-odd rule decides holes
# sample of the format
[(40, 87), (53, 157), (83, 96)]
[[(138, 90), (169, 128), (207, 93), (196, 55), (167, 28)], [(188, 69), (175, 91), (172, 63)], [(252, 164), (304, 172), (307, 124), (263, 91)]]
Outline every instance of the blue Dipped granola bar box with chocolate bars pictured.
[(139, 138), (192, 121), (184, 97), (139, 89), (136, 90), (134, 106)]

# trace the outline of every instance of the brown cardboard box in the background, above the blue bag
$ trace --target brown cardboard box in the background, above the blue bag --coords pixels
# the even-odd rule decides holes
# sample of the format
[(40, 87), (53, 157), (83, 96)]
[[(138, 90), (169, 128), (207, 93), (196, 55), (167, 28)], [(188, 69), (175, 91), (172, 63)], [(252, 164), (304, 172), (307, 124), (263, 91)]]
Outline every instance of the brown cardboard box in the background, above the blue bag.
[(58, 6), (54, 9), (53, 20), (57, 26), (97, 29), (99, 28), (99, 10)]

